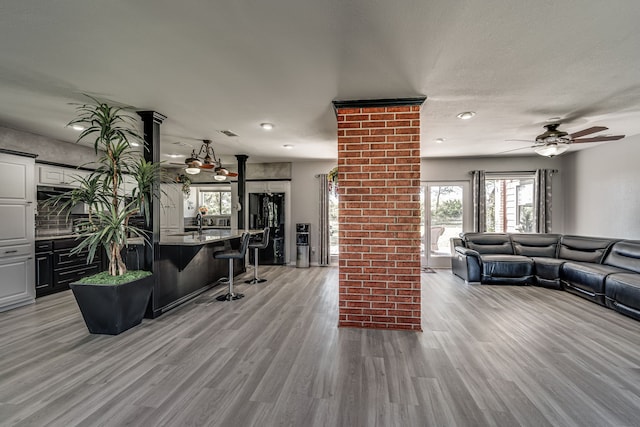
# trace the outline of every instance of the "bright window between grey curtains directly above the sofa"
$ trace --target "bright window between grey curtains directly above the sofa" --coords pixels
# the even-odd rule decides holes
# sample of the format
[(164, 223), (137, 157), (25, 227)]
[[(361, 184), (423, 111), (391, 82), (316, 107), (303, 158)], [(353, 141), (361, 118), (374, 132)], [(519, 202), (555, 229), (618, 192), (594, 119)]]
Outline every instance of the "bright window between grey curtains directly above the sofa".
[(533, 233), (535, 174), (492, 174), (485, 177), (486, 230), (498, 233)]

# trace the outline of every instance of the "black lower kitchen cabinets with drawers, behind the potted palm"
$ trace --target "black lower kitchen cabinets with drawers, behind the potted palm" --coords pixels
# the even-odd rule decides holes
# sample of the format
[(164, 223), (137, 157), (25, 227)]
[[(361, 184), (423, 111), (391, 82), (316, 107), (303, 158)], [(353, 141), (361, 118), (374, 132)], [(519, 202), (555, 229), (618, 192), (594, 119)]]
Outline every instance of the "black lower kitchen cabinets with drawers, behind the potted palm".
[(69, 283), (104, 270), (102, 253), (87, 264), (87, 250), (71, 253), (77, 244), (76, 239), (36, 242), (37, 297), (67, 290)]

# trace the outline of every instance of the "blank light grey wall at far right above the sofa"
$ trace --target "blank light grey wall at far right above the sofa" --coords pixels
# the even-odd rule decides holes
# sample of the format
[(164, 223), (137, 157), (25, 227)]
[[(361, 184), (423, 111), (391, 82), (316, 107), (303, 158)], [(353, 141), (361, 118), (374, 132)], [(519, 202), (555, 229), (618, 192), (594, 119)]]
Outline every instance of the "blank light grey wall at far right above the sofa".
[(563, 158), (564, 232), (640, 239), (640, 135)]

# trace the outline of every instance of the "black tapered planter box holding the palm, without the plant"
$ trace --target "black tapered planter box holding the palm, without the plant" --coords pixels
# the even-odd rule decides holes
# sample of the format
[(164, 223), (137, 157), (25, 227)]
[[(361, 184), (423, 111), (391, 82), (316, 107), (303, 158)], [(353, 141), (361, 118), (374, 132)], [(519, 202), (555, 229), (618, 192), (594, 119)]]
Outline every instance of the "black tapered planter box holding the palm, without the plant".
[(118, 335), (142, 322), (153, 276), (121, 285), (71, 283), (73, 296), (92, 334)]

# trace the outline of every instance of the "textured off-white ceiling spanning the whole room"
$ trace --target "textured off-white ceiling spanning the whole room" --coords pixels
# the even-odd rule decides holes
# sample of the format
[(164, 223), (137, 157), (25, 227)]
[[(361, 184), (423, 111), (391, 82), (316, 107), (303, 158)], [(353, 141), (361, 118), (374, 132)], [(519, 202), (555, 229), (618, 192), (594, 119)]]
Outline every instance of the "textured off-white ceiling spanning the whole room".
[(423, 157), (528, 147), (505, 140), (551, 117), (629, 137), (639, 25), (637, 0), (3, 0), (0, 125), (74, 141), (88, 93), (166, 115), (163, 154), (333, 159), (332, 100), (425, 95)]

